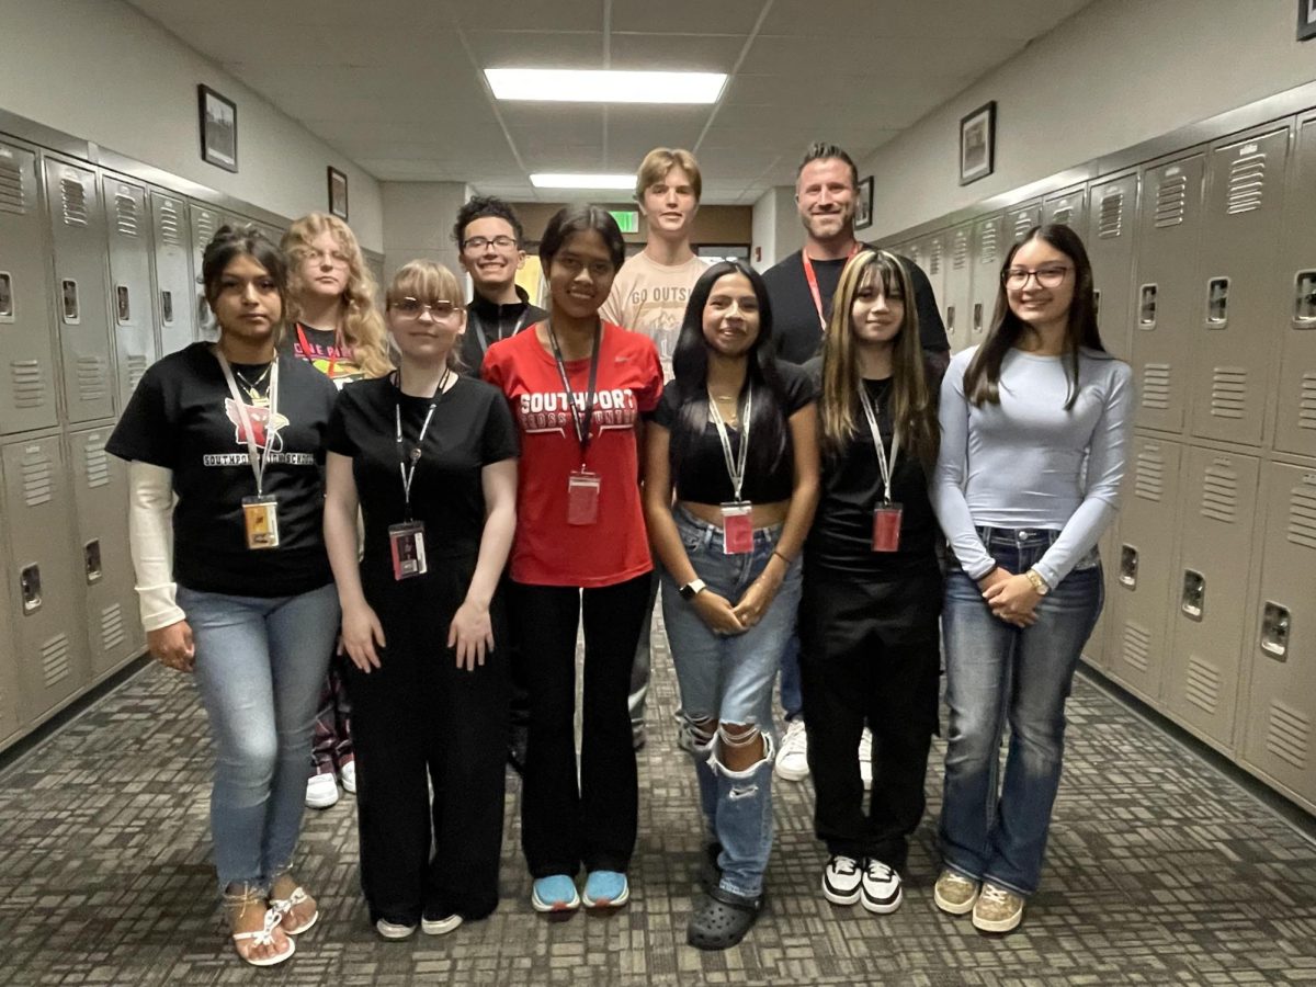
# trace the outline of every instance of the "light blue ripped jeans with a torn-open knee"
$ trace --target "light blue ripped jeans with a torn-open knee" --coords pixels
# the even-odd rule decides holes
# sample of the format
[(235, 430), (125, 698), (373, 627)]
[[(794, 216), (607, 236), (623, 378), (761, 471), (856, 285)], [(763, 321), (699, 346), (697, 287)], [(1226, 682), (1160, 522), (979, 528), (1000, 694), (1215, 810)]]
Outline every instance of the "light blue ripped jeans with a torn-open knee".
[[(754, 532), (754, 550), (722, 551), (720, 528), (682, 508), (672, 512), (695, 572), (732, 604), (744, 596), (772, 557), (780, 526)], [(772, 684), (782, 649), (795, 632), (800, 603), (800, 561), (786, 572), (762, 620), (744, 634), (715, 634), (667, 571), (662, 574), (663, 621), (671, 645), (683, 729), (695, 741), (695, 772), (707, 836), (721, 844), (721, 887), (755, 898), (772, 848)], [(721, 722), (722, 728), (717, 729)], [(744, 728), (744, 729), (736, 729)], [(725, 767), (725, 750), (755, 742), (765, 755), (744, 771)]]

